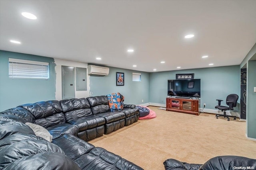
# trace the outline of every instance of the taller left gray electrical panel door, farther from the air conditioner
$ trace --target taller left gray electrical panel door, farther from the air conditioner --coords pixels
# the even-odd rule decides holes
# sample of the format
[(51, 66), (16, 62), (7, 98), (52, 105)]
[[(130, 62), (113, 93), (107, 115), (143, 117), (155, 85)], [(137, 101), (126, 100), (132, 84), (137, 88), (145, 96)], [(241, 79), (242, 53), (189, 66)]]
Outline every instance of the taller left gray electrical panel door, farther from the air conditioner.
[(62, 99), (75, 98), (75, 67), (61, 66)]

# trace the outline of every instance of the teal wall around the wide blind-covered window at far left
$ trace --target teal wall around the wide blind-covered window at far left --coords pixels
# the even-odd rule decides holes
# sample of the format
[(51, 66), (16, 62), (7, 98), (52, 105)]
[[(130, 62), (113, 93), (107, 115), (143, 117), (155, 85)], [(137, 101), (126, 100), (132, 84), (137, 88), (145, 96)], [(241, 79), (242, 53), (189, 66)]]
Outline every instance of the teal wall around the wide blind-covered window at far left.
[[(8, 73), (8, 58), (49, 62), (50, 78), (48, 80), (11, 79)], [(56, 91), (54, 67), (53, 58), (0, 51), (0, 111), (20, 104), (54, 100)]]

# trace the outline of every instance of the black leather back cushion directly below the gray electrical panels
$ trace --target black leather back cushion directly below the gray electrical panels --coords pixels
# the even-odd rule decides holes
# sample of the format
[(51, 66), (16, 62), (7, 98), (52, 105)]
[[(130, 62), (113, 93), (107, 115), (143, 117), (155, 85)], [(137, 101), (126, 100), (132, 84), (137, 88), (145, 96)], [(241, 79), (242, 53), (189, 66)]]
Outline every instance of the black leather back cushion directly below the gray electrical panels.
[(86, 98), (60, 100), (66, 121), (92, 115), (90, 104)]

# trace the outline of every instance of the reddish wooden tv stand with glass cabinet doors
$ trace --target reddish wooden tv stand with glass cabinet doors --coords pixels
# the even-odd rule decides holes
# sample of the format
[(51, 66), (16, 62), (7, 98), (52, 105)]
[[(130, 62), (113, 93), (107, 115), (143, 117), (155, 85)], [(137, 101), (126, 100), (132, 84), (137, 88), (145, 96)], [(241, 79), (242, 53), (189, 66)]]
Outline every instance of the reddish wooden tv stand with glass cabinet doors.
[(199, 115), (198, 99), (166, 98), (166, 110)]

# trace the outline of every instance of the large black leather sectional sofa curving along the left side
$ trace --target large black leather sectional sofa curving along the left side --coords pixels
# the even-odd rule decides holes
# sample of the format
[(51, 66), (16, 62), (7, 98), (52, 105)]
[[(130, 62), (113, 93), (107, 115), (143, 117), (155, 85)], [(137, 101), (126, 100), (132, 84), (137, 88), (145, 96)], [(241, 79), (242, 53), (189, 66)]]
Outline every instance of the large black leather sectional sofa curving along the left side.
[[(0, 169), (142, 170), (86, 142), (138, 121), (135, 105), (110, 112), (106, 96), (24, 104), (0, 112)], [(36, 136), (26, 122), (40, 125), (52, 142)]]

